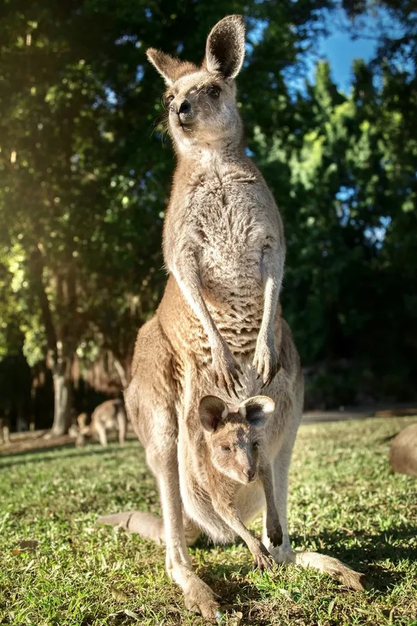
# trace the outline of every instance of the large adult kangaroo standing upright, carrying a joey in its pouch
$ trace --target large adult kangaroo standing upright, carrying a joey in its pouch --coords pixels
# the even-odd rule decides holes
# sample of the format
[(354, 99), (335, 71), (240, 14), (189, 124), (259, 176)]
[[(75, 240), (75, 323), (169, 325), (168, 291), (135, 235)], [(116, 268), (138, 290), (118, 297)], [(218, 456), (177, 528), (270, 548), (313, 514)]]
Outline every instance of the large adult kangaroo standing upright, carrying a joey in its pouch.
[[(263, 454), (272, 468), (282, 541), (274, 545), (280, 543), (280, 533), (270, 541), (267, 511), (265, 552), (259, 548), (264, 556), (258, 565), (270, 566), (268, 551), (279, 563), (311, 565), (361, 588), (360, 575), (343, 563), (293, 552), (288, 538), (288, 468), (302, 416), (303, 381), (279, 308), (285, 257), (281, 217), (245, 154), (236, 105), (234, 78), (244, 54), (245, 28), (238, 15), (214, 26), (201, 67), (147, 51), (167, 83), (178, 164), (163, 232), (170, 276), (154, 318), (138, 333), (125, 400), (158, 481), (163, 529), (160, 520), (146, 513), (107, 518), (165, 541), (168, 575), (182, 588), (186, 606), (208, 618), (215, 616), (218, 600), (193, 571), (186, 543), (195, 540), (198, 529), (220, 542), (243, 536), (245, 524), (265, 509), (266, 490), (259, 475), (247, 477), (224, 509), (221, 481), (216, 487), (202, 480), (210, 443), (200, 414), (206, 396), (217, 397), (224, 417), (241, 413), (250, 403), (247, 398), (258, 396), (265, 386), (275, 403), (265, 422)], [(211, 455), (213, 464), (220, 457), (222, 451)], [(226, 485), (227, 477), (222, 480)]]

